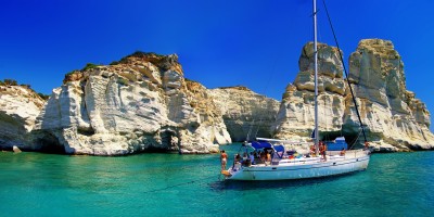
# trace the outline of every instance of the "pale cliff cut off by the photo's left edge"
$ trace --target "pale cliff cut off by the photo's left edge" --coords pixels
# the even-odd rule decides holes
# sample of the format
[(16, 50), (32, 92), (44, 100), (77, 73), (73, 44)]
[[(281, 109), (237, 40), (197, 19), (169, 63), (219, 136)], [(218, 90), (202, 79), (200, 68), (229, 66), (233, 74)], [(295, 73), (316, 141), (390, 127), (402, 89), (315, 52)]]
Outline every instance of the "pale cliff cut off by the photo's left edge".
[(0, 86), (0, 148), (39, 149), (30, 133), (46, 101), (26, 86)]

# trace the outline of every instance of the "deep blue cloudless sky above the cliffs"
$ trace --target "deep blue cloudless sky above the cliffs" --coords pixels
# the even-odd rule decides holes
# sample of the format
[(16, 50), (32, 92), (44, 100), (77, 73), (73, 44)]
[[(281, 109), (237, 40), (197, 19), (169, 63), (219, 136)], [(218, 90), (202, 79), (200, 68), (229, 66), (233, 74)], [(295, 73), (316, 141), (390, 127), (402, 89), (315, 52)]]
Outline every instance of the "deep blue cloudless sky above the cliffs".
[[(407, 89), (434, 114), (434, 1), (327, 3), (345, 60), (360, 39), (392, 40)], [(318, 4), (319, 40), (334, 44)], [(177, 53), (186, 77), (207, 88), (243, 85), (280, 100), (312, 40), (310, 13), (310, 0), (1, 0), (0, 79), (48, 94), (86, 63), (141, 50)]]

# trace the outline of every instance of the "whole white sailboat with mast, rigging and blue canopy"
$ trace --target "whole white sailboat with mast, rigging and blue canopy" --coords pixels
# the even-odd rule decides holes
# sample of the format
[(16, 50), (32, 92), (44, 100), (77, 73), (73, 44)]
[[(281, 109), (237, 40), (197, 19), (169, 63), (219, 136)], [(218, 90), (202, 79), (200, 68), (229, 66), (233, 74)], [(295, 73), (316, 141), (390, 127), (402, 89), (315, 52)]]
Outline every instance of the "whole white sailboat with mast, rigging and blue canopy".
[[(315, 130), (314, 150), (311, 155), (298, 154), (294, 156), (290, 151), (285, 151), (285, 144), (291, 145), (305, 145), (304, 142), (256, 138), (254, 142), (244, 142), (246, 153), (248, 149), (254, 152), (260, 152), (263, 161), (255, 164), (253, 158), (238, 158), (228, 170), (222, 170), (227, 180), (288, 180), (288, 179), (305, 179), (328, 177), (342, 174), (348, 174), (367, 169), (370, 161), (370, 151), (363, 150), (348, 150), (344, 154), (336, 152), (323, 152), (328, 155), (319, 155), (319, 131), (318, 131), (318, 48), (317, 48), (317, 7), (316, 0), (314, 2), (314, 49), (315, 49)], [(340, 53), (341, 54), (341, 53)], [(341, 61), (343, 62), (342, 55)], [(345, 66), (344, 66), (345, 67)], [(348, 76), (347, 76), (348, 77)], [(348, 80), (347, 80), (348, 81)], [(357, 103), (354, 99), (353, 90), (349, 89), (353, 95), (353, 101), (356, 104), (356, 112), (358, 114)], [(363, 125), (360, 115), (358, 114), (360, 126), (367, 144)], [(323, 150), (322, 150), (323, 151)], [(272, 153), (272, 159), (269, 159), (269, 154)], [(267, 158), (267, 159), (266, 159)]]

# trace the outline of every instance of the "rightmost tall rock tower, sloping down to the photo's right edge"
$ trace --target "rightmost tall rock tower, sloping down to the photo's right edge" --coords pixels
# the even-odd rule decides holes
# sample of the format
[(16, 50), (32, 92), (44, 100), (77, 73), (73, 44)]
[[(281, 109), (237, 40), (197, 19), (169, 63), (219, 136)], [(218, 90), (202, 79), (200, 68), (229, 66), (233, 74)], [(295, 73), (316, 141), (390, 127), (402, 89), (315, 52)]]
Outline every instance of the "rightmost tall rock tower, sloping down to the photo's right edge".
[[(392, 41), (361, 40), (349, 56), (349, 78), (355, 84), (370, 140), (383, 141), (400, 150), (434, 148), (430, 112), (413, 92), (407, 90), (404, 63)], [(353, 106), (348, 106), (344, 119), (347, 126), (356, 122)]]

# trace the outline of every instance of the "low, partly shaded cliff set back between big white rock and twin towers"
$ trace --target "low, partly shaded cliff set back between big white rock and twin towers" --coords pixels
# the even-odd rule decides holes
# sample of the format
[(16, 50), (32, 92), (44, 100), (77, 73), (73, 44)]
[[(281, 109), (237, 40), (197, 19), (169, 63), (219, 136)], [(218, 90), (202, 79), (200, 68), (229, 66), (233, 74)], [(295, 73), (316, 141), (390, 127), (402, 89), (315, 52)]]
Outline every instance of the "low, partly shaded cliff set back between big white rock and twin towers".
[(208, 90), (222, 112), (226, 127), (233, 141), (255, 137), (270, 138), (280, 102), (253, 92), (245, 87)]

